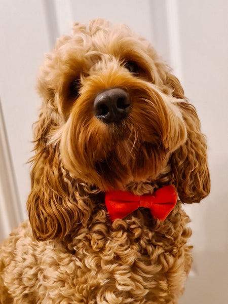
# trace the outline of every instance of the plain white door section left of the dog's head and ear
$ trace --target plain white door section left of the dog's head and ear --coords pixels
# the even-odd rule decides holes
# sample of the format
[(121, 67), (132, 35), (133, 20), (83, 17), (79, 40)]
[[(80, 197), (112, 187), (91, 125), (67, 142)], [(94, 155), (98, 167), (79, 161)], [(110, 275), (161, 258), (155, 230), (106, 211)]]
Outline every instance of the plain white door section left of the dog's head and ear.
[[(50, 50), (50, 43), (42, 1), (2, 0), (0, 20), (0, 97), (12, 174), (16, 177), (20, 220), (24, 220), (27, 217), (25, 203), (30, 187), (26, 162), (32, 150), (32, 123), (37, 118), (40, 105), (35, 92), (35, 79), (44, 52)], [(7, 172), (4, 174), (7, 177)], [(15, 220), (12, 225), (18, 223)]]

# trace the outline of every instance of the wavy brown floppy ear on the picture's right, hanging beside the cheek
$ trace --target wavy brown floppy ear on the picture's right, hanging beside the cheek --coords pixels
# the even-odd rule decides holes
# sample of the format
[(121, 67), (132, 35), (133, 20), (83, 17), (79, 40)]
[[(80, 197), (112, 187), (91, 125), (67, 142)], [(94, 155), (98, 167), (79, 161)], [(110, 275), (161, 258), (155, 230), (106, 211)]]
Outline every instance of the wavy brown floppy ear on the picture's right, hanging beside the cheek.
[(173, 180), (183, 203), (199, 203), (210, 192), (206, 138), (201, 133), (195, 107), (184, 97), (178, 79), (166, 74), (165, 85), (177, 99), (187, 129), (187, 140), (171, 156)]

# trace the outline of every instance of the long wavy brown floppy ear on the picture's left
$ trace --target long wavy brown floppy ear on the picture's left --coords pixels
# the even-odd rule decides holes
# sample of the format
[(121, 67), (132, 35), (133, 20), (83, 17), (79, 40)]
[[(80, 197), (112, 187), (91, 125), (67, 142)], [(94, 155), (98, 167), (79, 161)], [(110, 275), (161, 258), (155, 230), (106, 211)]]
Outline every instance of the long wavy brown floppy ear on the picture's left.
[[(51, 105), (52, 103), (52, 105)], [(27, 209), (33, 235), (39, 240), (62, 239), (89, 217), (89, 201), (80, 198), (78, 183), (62, 168), (59, 144), (49, 144), (56, 127), (53, 102), (43, 103), (34, 128), (35, 156), (31, 159), (31, 192)]]

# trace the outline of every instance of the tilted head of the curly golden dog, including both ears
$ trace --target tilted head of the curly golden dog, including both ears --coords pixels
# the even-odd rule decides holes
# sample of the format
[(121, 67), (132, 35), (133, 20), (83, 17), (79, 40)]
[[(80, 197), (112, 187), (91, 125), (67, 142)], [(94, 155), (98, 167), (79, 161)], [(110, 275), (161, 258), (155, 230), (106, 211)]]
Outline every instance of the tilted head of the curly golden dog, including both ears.
[(90, 200), (80, 198), (89, 193), (151, 182), (174, 184), (184, 203), (208, 195), (196, 110), (153, 47), (127, 26), (75, 24), (46, 56), (38, 90), (27, 202), (36, 238), (61, 238), (88, 220)]

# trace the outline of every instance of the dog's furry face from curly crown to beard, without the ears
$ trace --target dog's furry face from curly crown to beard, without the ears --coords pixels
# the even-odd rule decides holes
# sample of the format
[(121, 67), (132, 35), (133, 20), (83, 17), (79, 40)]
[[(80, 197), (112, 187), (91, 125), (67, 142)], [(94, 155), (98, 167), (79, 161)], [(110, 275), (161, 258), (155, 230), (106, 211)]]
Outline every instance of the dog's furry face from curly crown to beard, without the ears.
[(59, 130), (51, 141), (72, 177), (101, 190), (155, 179), (185, 142), (179, 101), (163, 92), (156, 60), (127, 27), (99, 23), (76, 26), (53, 52), (45, 86), (55, 92)]

